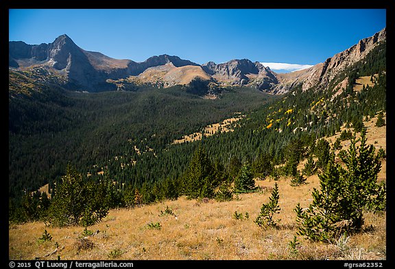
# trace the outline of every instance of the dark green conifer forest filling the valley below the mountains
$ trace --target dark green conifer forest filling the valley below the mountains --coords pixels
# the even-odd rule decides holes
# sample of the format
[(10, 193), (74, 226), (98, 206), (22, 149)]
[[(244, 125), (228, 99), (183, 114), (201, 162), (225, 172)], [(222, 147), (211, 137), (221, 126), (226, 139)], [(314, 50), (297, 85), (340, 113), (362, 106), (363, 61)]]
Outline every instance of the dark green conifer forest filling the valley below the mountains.
[[(283, 96), (245, 87), (223, 88), (217, 99), (203, 99), (183, 86), (89, 94), (51, 84), (27, 93), (10, 90), (10, 221), (88, 226), (111, 208), (181, 195), (224, 201), (254, 191), (252, 177), (300, 179), (317, 172), (297, 170), (302, 159), (318, 159), (313, 166), (324, 171), (331, 146), (321, 138), (344, 125), (361, 132), (363, 120), (385, 113), (385, 68), (384, 43), (326, 88), (297, 86)], [(372, 86), (353, 90), (364, 76)], [(348, 85), (339, 92), (346, 77)], [(21, 84), (21, 74), (10, 73), (10, 88), (13, 84)], [(239, 114), (244, 117), (234, 131), (172, 144)], [(344, 139), (350, 138), (345, 132)], [(49, 196), (37, 191), (47, 183)], [(61, 219), (57, 194), (67, 188), (83, 190), (74, 198), (90, 211), (74, 209), (73, 218)]]

